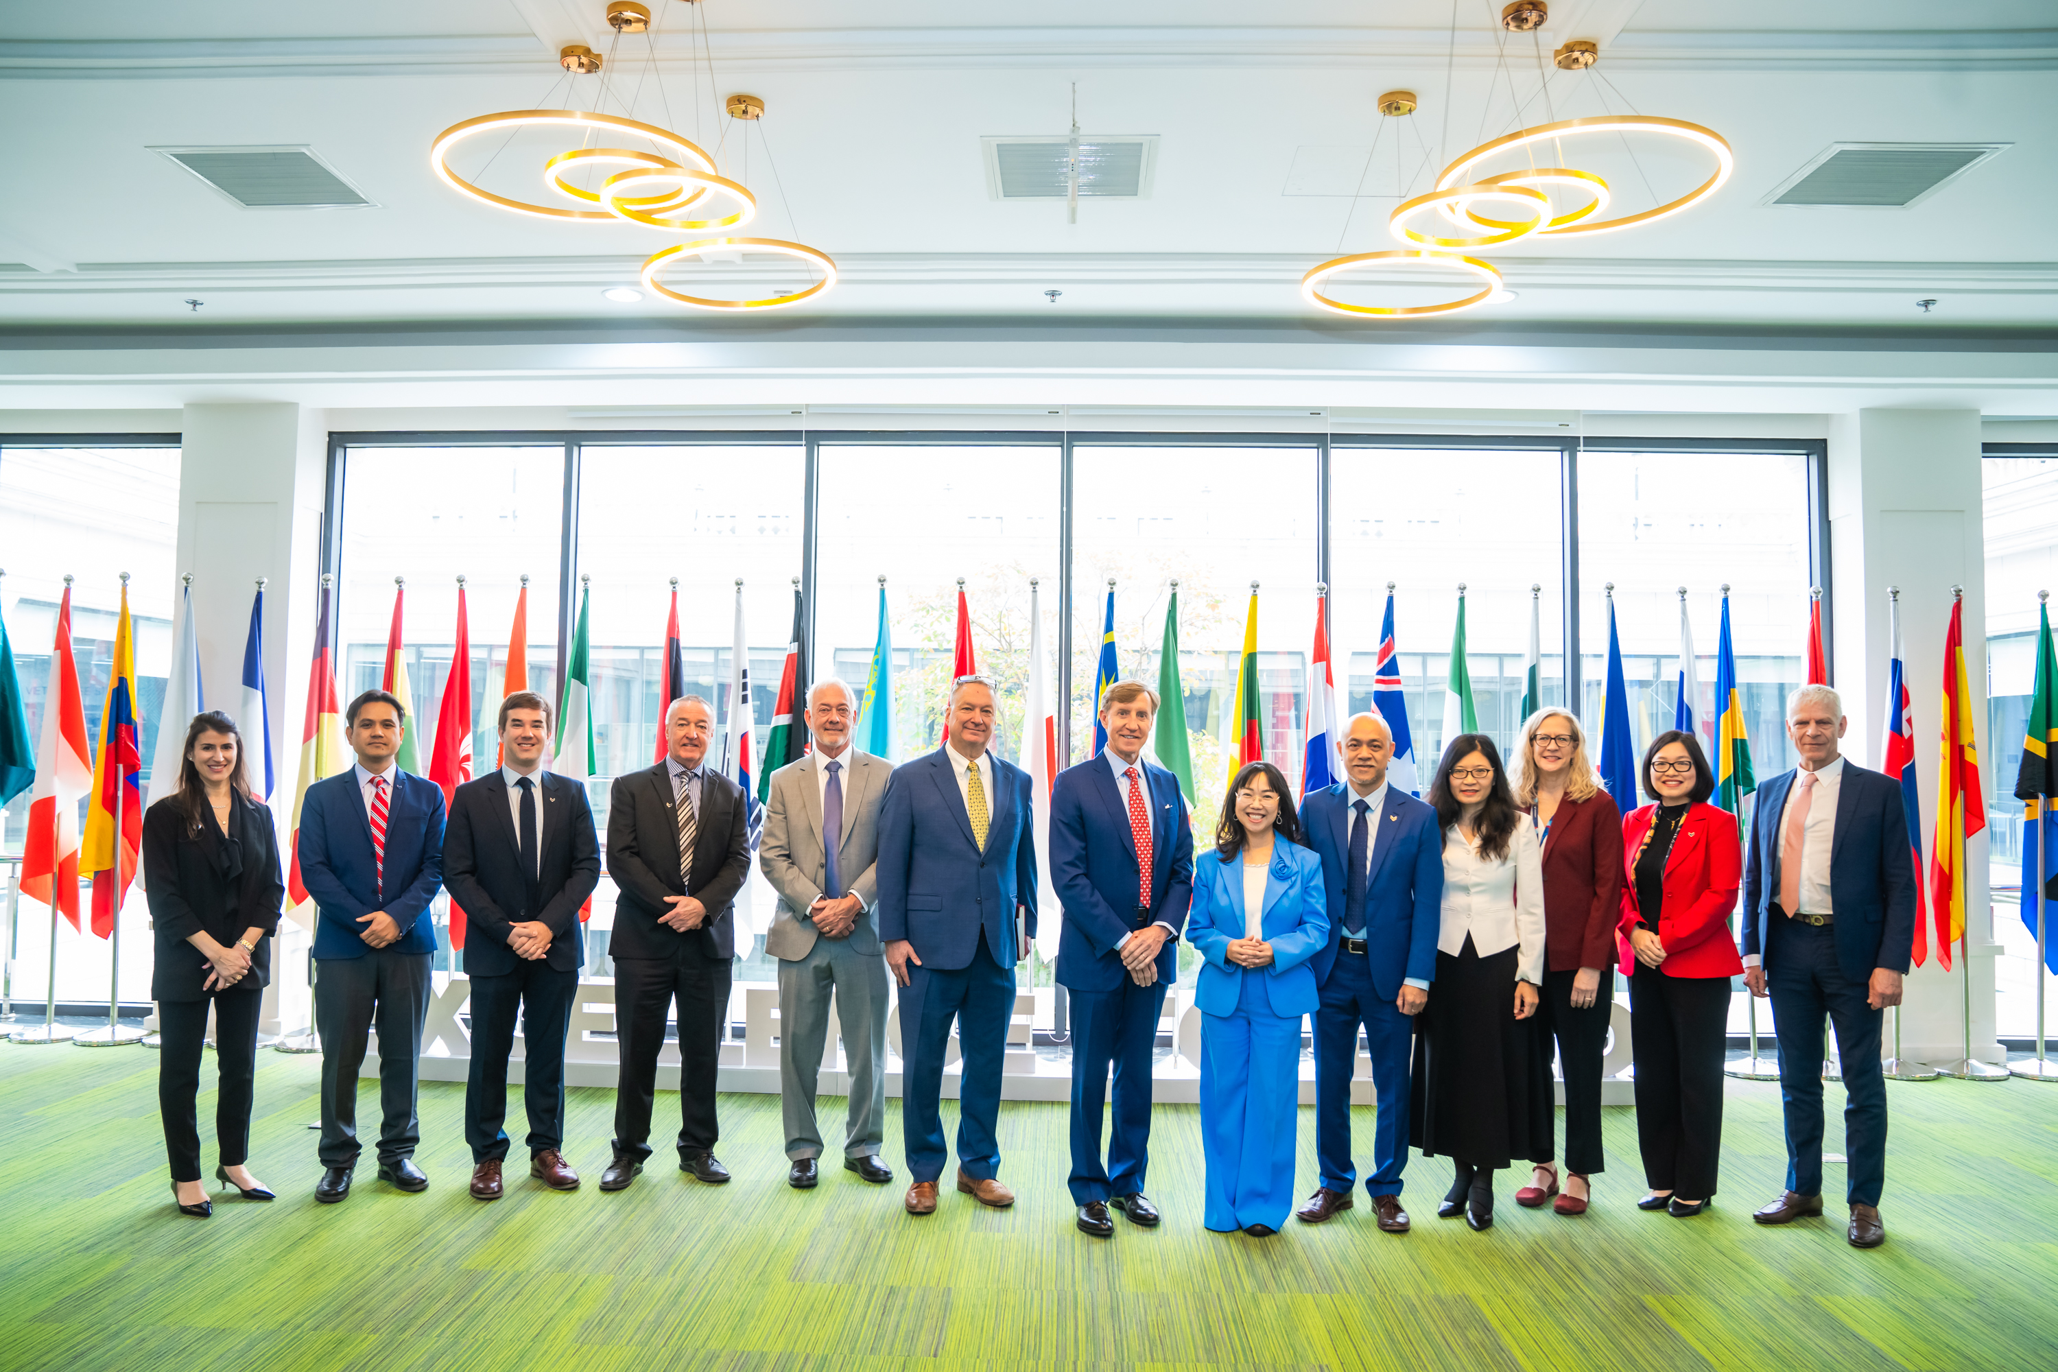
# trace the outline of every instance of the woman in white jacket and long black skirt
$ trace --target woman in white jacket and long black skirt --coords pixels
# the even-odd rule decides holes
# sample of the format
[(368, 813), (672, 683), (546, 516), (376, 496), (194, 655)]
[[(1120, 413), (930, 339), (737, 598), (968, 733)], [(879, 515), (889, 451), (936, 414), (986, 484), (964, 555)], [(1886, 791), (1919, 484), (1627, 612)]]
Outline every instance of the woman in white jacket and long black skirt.
[(1494, 1222), (1494, 1172), (1513, 1158), (1552, 1156), (1552, 1098), (1529, 1072), (1521, 1024), (1537, 1012), (1543, 981), (1543, 864), (1486, 734), (1451, 741), (1426, 798), (1443, 827), (1443, 926), (1408, 1142), (1457, 1164), (1436, 1214), (1463, 1214), (1484, 1230)]

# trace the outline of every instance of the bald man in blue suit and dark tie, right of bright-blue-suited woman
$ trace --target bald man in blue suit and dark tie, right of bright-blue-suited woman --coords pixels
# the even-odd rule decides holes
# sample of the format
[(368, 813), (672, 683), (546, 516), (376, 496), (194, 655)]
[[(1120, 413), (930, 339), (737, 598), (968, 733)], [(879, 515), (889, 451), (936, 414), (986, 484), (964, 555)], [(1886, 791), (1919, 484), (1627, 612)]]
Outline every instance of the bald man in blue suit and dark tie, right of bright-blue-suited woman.
[(1350, 1076), (1358, 1026), (1373, 1057), (1373, 1175), (1364, 1179), (1379, 1228), (1408, 1232), (1401, 1168), (1408, 1166), (1408, 1063), (1414, 1016), (1428, 1004), (1443, 924), (1443, 829), (1436, 810), (1387, 784), (1393, 732), (1377, 714), (1356, 714), (1344, 732), (1344, 780), (1301, 804), (1301, 829), (1321, 856), (1329, 895), (1329, 942), (1313, 959), (1315, 1156), (1321, 1185), (1294, 1214), (1321, 1224), (1350, 1209), (1358, 1181), (1350, 1164)]

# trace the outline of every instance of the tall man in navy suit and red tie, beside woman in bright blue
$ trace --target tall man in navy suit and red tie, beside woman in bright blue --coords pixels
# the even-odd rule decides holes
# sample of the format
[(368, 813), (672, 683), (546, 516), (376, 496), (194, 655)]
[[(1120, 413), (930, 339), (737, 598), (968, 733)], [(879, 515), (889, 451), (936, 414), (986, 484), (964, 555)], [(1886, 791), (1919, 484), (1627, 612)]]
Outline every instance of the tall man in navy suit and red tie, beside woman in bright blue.
[[(1050, 796), (1050, 884), (1064, 905), (1058, 985), (1072, 1004), (1072, 1203), (1078, 1228), (1115, 1232), (1109, 1205), (1150, 1228), (1150, 1051), (1179, 930), (1194, 903), (1194, 827), (1179, 782), (1144, 761), (1157, 691), (1117, 681), (1101, 697), (1107, 749), (1066, 767)], [(1113, 1138), (1101, 1162), (1101, 1105), (1115, 1076)]]

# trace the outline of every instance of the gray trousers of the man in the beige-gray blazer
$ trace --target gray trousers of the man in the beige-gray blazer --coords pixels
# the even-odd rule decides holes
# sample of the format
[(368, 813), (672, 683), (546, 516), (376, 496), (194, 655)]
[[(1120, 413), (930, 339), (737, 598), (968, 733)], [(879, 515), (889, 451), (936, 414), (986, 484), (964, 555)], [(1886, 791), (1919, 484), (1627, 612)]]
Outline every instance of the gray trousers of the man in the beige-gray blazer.
[(778, 965), (778, 1086), (786, 1123), (786, 1156), (819, 1158), (815, 1082), (829, 1037), (829, 994), (844, 1031), (850, 1066), (846, 1158), (873, 1158), (887, 1119), (887, 959), (856, 952), (848, 938), (817, 938), (805, 959)]

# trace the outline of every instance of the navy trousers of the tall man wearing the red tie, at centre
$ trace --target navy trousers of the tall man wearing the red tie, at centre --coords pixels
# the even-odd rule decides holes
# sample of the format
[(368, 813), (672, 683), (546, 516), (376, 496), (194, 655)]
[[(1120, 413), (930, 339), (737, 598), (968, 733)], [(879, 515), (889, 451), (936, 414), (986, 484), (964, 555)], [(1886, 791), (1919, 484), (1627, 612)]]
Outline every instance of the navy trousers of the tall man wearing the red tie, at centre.
[[(1072, 1203), (1144, 1189), (1150, 1168), (1150, 1053), (1157, 1047), (1165, 983), (1113, 991), (1072, 991)], [(1101, 1105), (1113, 1068), (1113, 1133), (1101, 1162)]]

